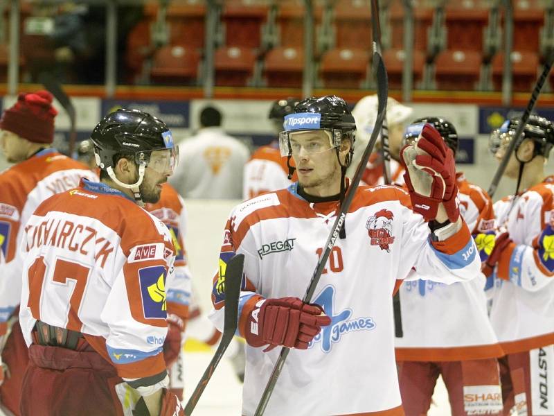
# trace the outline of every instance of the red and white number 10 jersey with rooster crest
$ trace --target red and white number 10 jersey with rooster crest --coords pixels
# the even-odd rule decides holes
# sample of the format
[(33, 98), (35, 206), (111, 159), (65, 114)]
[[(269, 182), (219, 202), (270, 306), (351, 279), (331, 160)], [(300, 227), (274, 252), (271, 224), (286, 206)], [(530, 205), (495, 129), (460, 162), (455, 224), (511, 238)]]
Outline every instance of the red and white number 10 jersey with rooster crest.
[[(231, 211), (220, 270), (234, 252), (244, 254), (241, 336), (260, 297), (303, 297), (336, 219), (337, 201), (310, 203), (297, 185)], [(475, 277), (481, 267), (465, 224), (447, 241), (430, 243), (427, 223), (409, 206), (409, 195), (397, 187), (357, 189), (346, 215), (346, 239), (337, 237), (312, 299), (332, 324), (307, 350), (292, 349), (266, 415), (403, 415), (391, 302), (397, 277), (415, 267), (451, 284)], [(215, 276), (212, 292), (211, 319), (220, 330), (223, 280)], [(246, 348), (242, 414), (251, 416), (280, 349)]]

